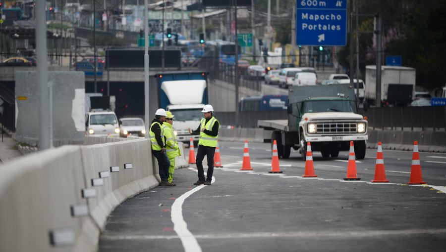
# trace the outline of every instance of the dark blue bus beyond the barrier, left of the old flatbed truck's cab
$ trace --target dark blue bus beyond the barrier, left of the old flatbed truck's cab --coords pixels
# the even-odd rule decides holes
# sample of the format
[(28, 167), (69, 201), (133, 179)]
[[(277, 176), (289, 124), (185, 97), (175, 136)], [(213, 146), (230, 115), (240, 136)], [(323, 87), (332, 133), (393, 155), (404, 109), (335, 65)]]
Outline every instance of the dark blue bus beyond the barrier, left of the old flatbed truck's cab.
[(242, 97), (239, 102), (239, 111), (272, 111), (286, 110), (288, 95), (264, 94)]

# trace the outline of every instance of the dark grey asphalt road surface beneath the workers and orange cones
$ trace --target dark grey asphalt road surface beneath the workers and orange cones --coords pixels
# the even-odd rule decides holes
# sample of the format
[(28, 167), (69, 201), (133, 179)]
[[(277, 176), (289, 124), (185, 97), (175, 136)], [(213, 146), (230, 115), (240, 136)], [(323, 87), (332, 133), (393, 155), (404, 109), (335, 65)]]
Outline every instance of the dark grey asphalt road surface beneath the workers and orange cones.
[(370, 183), (374, 150), (357, 162), (361, 180), (347, 182), (348, 152), (329, 160), (315, 153), (318, 177), (302, 178), (295, 151), (280, 160), (282, 173), (268, 173), (269, 148), (250, 144), (253, 171), (242, 172), (243, 144), (220, 142), (223, 168), (212, 185), (193, 185), (194, 165), (176, 170), (177, 186), (116, 207), (99, 251), (444, 251), (446, 155), (422, 153), (438, 163), (422, 161), (428, 185), (409, 186), (410, 152), (385, 151), (390, 182)]

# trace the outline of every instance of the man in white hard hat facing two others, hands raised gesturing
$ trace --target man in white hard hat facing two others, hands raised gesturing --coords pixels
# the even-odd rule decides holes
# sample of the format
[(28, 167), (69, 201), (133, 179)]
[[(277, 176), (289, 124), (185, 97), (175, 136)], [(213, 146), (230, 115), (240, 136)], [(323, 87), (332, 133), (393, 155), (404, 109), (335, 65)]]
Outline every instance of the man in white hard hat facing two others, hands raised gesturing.
[[(189, 133), (200, 135), (198, 140), (197, 158), (195, 159), (198, 169), (198, 181), (194, 185), (211, 185), (212, 174), (214, 173), (214, 154), (217, 146), (220, 123), (214, 117), (214, 108), (210, 104), (203, 107), (203, 119), (196, 130), (189, 128)], [(204, 176), (203, 159), (206, 156), (208, 160), (208, 170)]]

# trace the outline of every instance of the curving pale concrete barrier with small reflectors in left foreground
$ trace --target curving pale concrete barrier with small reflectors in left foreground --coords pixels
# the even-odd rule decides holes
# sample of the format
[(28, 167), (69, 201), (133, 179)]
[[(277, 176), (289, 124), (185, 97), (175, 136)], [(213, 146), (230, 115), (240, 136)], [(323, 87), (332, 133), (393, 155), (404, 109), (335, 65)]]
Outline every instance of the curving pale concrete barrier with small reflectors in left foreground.
[(1, 166), (0, 251), (96, 251), (110, 212), (158, 185), (150, 153), (147, 139), (135, 139), (63, 146)]

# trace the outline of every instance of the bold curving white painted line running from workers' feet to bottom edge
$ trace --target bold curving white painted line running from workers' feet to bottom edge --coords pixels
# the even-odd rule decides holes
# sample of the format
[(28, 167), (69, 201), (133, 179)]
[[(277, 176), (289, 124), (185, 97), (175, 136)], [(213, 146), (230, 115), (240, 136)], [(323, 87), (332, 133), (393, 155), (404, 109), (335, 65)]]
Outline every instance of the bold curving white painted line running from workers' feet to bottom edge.
[[(197, 171), (196, 169), (189, 168), (194, 171)], [(206, 172), (204, 172), (206, 175)], [(215, 177), (212, 176), (212, 183), (215, 182)], [(187, 223), (183, 219), (183, 203), (184, 200), (187, 199), (189, 196), (191, 196), (193, 193), (199, 191), (200, 189), (203, 189), (205, 185), (199, 185), (195, 187), (194, 189), (184, 193), (180, 197), (178, 197), (172, 204), (171, 212), (170, 212), (170, 218), (173, 223), (173, 230), (176, 232), (178, 237), (181, 240), (181, 243), (183, 244), (183, 248), (185, 252), (201, 252), (201, 247), (197, 242), (197, 239), (195, 236), (187, 229)]]

